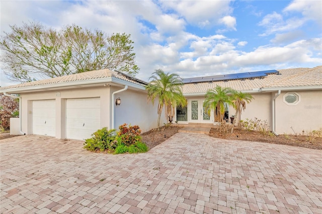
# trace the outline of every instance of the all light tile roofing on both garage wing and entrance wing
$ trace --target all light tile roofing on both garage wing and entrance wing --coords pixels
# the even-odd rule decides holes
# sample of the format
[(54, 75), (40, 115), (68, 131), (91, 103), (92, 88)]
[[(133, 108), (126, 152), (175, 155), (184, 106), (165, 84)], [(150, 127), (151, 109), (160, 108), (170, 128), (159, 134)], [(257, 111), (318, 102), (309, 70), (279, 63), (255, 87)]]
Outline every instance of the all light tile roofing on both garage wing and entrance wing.
[[(277, 87), (301, 87), (301, 86), (321, 86), (322, 87), (322, 66), (314, 68), (291, 68), (281, 69), (279, 75), (268, 74), (266, 77), (253, 78), (253, 79), (234, 79), (234, 80), (221, 80), (211, 82), (198, 82), (186, 83), (183, 85), (184, 94), (202, 94), (206, 93), (208, 89), (216, 87), (231, 87), (240, 91), (251, 91), (259, 88), (277, 88)], [(86, 81), (95, 79), (106, 79), (114, 77), (117, 79), (125, 80), (140, 86), (145, 86), (147, 83), (124, 73), (111, 71), (109, 69), (88, 71), (84, 73), (77, 73), (67, 76), (60, 76), (56, 78), (43, 79), (33, 82), (26, 82), (7, 87), (0, 87), (0, 90), (7, 89), (22, 89), (32, 86), (50, 85), (56, 83), (68, 83), (76, 81)]]

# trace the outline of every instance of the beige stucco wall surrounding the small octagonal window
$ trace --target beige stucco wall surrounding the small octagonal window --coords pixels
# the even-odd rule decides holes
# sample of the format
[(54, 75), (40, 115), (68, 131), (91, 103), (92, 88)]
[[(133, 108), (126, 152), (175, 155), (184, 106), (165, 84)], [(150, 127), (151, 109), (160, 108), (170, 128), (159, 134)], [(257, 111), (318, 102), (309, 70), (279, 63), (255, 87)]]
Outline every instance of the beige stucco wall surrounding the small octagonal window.
[(276, 133), (302, 134), (304, 130), (305, 135), (322, 128), (322, 90), (295, 91), (300, 95), (296, 105), (283, 102), (287, 92), (281, 92), (276, 98)]

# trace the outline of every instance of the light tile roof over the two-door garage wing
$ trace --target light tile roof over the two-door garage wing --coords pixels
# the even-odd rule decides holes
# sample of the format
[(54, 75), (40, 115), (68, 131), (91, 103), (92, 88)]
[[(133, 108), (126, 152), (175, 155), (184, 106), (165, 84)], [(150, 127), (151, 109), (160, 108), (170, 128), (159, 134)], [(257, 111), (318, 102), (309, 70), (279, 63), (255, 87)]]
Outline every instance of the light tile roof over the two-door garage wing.
[(124, 73), (118, 71), (111, 71), (110, 69), (102, 69), (95, 71), (88, 71), (84, 73), (76, 73), (66, 76), (59, 76), (50, 79), (42, 79), (38, 81), (26, 82), (17, 85), (10, 85), (7, 87), (1, 87), (1, 90), (12, 89), (12, 88), (28, 88), (30, 86), (41, 86), (41, 85), (50, 85), (55, 83), (67, 83), (67, 82), (76, 82), (82, 80), (94, 80), (94, 79), (106, 79), (110, 77), (115, 77), (117, 79), (125, 80), (134, 84), (144, 86), (145, 82), (139, 80), (135, 77), (128, 76)]

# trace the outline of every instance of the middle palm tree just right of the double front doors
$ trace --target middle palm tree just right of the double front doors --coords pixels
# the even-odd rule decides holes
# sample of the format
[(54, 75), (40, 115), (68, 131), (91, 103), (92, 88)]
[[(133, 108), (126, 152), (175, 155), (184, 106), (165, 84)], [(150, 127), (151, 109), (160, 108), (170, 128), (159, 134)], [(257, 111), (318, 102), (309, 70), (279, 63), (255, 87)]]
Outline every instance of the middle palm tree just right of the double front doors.
[(222, 88), (217, 85), (214, 89), (209, 89), (206, 93), (206, 99), (203, 104), (205, 111), (213, 110), (214, 120), (216, 122), (223, 122), (225, 114), (224, 103), (233, 104), (232, 97), (228, 94), (232, 94), (234, 90), (229, 87)]

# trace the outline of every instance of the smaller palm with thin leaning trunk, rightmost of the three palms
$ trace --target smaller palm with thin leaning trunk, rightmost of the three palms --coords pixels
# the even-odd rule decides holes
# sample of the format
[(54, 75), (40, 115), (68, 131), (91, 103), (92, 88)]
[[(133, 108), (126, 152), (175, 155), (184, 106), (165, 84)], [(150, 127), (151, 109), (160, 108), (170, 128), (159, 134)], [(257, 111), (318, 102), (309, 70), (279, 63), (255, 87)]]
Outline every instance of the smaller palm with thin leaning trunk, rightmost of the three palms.
[[(242, 111), (245, 111), (246, 109), (246, 103), (250, 103), (254, 97), (250, 93), (243, 93), (241, 91), (235, 91), (232, 94), (233, 99), (233, 108), (236, 110), (235, 116), (237, 117), (238, 114), (241, 114)], [(230, 130), (230, 133), (233, 132), (234, 124), (236, 123), (236, 120), (233, 120), (233, 124)]]

